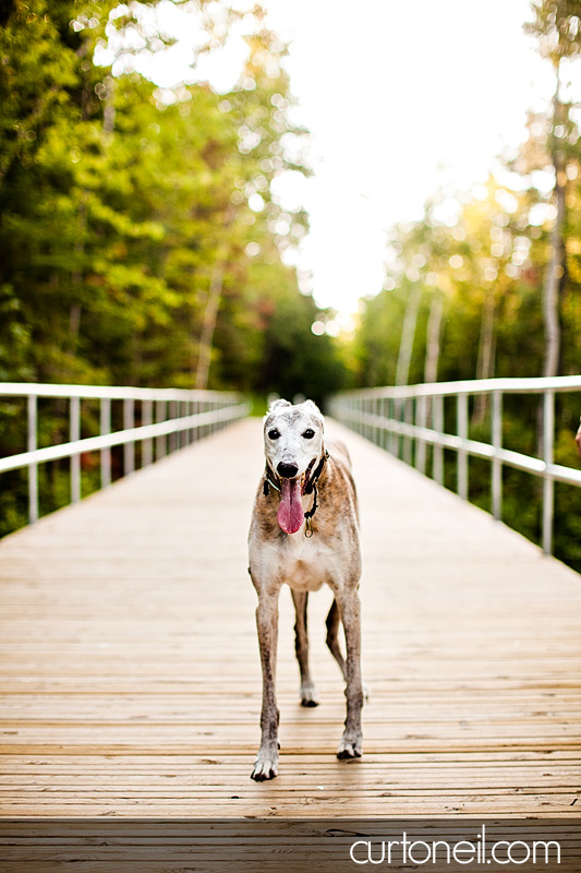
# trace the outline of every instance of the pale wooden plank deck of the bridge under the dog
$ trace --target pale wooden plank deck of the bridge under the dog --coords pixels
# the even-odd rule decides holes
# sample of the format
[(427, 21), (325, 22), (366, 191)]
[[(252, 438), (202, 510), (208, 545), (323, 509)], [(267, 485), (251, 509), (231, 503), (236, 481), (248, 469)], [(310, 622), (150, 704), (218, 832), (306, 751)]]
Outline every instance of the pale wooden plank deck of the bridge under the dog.
[(263, 462), (245, 420), (0, 543), (1, 816), (579, 815), (581, 578), (343, 438), (362, 505), (364, 757), (335, 758), (329, 593), (311, 598), (322, 705), (304, 709), (283, 591), (280, 776), (250, 779)]

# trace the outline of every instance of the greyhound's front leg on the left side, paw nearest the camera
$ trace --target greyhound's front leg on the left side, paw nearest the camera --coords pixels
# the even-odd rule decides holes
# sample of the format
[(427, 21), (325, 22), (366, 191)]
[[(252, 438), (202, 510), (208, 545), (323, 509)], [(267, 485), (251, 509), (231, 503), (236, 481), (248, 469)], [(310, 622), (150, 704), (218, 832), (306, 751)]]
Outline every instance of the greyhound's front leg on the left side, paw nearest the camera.
[(278, 589), (261, 594), (256, 609), (256, 627), (263, 666), (262, 741), (254, 762), (252, 778), (257, 782), (274, 779), (278, 773), (279, 711), (275, 691), (278, 641)]

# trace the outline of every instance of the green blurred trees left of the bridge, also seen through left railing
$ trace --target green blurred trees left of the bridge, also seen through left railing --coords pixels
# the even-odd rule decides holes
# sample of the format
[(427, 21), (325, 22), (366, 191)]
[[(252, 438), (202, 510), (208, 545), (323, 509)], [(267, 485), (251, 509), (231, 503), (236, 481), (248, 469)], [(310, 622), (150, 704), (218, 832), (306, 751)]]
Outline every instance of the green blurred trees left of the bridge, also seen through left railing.
[[(270, 190), (286, 170), (308, 172), (286, 46), (256, 7), (231, 93), (157, 88), (132, 59), (171, 43), (148, 23), (155, 5), (15, 0), (0, 21), (0, 380), (193, 387), (208, 328), (208, 387), (320, 399), (341, 384), (340, 354), (312, 334), (315, 303), (283, 263), (306, 216)], [(241, 17), (227, 0), (190, 9), (201, 52)], [(108, 40), (114, 75), (95, 62)], [(24, 419), (4, 406), (12, 454)], [(65, 439), (64, 410), (41, 420)], [(43, 468), (43, 511), (65, 500), (68, 476)], [(25, 521), (25, 477), (2, 486), (5, 533)]]

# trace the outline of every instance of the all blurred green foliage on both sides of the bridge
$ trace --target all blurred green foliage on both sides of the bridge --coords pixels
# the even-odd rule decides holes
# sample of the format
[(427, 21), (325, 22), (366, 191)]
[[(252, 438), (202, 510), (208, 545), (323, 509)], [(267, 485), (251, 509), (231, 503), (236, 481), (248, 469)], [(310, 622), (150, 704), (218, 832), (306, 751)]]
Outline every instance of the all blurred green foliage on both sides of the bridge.
[[(526, 27), (554, 74), (552, 105), (531, 111), (521, 148), (501, 155), (485, 184), (434, 192), (417, 222), (390, 229), (384, 289), (338, 337), (325, 331), (336, 313), (301, 292), (285, 259), (307, 216), (273, 195), (281, 172), (310, 172), (286, 46), (257, 5), (230, 93), (203, 82), (160, 88), (131, 63), (132, 52), (171, 43), (145, 14), (155, 5), (2, 5), (0, 381), (300, 392), (323, 403), (346, 387), (579, 373), (580, 115), (561, 82), (581, 46), (581, 2), (533, 3)], [(195, 8), (199, 52), (219, 49), (241, 13), (227, 0)], [(116, 52), (114, 75), (96, 61), (104, 47)], [(538, 404), (525, 399), (506, 403), (505, 443), (537, 454)], [(559, 397), (558, 463), (577, 463), (580, 411), (578, 397)], [(2, 452), (22, 451), (22, 414), (14, 404), (0, 412)], [(43, 427), (44, 439), (64, 440), (66, 410), (53, 404)], [(488, 432), (489, 410), (475, 402), (471, 434)], [(96, 473), (85, 466), (90, 490)], [(64, 500), (60, 474), (44, 474), (47, 511)], [(453, 476), (450, 457), (452, 488)], [(507, 522), (537, 540), (538, 483), (507, 470), (505, 490)], [(480, 462), (471, 499), (488, 505)], [(557, 487), (556, 513), (556, 553), (581, 570), (579, 489)], [(0, 534), (24, 522), (24, 477), (4, 476)]]

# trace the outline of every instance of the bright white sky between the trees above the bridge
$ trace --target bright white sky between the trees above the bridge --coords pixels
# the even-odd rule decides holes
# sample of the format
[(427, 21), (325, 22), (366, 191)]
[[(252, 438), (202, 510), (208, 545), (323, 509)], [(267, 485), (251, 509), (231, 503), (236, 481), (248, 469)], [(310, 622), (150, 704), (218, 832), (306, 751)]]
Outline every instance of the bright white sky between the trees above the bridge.
[[(522, 32), (529, 0), (263, 3), (291, 41), (294, 118), (312, 132), (314, 177), (277, 191), (310, 213), (296, 264), (315, 299), (347, 316), (382, 288), (386, 229), (420, 217), (438, 187), (483, 180), (523, 140), (526, 109), (550, 97), (550, 73)], [(189, 57), (184, 40), (154, 77), (172, 84)], [(226, 91), (239, 63), (231, 47), (199, 73)]]

